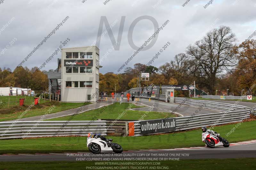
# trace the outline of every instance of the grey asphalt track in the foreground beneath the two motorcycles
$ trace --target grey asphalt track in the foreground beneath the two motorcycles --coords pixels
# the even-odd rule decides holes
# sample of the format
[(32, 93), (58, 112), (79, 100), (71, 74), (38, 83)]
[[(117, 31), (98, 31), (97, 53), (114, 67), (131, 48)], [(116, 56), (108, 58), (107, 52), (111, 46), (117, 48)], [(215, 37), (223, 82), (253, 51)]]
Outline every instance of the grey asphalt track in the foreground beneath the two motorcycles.
[[(194, 149), (193, 149), (194, 148)], [(148, 151), (126, 151), (121, 154), (112, 156), (104, 154), (80, 153), (83, 156), (78, 156), (78, 153), (64, 154), (19, 154), (19, 155), (0, 155), (0, 161), (86, 161), (86, 158), (141, 158), (146, 154), (150, 154), (148, 158), (179, 158), (179, 159), (225, 159), (225, 158), (256, 158), (256, 143), (234, 145), (228, 148), (207, 148), (193, 147), (176, 148), (174, 150), (148, 150)], [(159, 156), (162, 154), (162, 156)], [(168, 154), (168, 156), (166, 156)], [(164, 155), (164, 156), (163, 156)], [(183, 155), (183, 156), (182, 156)], [(83, 158), (83, 159), (80, 159)]]

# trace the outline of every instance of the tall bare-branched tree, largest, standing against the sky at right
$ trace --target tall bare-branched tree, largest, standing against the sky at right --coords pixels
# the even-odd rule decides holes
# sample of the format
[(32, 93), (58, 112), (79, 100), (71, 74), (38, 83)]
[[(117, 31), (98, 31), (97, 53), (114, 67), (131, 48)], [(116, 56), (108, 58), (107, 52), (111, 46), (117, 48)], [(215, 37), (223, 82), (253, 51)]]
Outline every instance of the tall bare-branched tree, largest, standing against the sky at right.
[(195, 60), (192, 67), (200, 70), (198, 76), (204, 81), (210, 94), (215, 92), (216, 77), (223, 70), (236, 65), (236, 57), (232, 53), (235, 34), (227, 26), (209, 31), (206, 36), (187, 48), (187, 54)]

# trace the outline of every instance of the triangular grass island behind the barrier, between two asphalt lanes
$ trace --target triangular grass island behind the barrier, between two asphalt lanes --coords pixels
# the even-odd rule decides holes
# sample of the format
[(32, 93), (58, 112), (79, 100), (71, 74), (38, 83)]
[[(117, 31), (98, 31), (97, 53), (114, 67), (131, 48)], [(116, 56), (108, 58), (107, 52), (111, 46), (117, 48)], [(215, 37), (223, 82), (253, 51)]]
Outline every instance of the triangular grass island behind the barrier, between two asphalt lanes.
[[(114, 103), (108, 105), (106, 107), (101, 107), (98, 109), (90, 110), (81, 114), (75, 115), (72, 121), (83, 121), (83, 120), (92, 120), (93, 117), (96, 119), (116, 119), (119, 114), (124, 112), (130, 103)], [(131, 108), (137, 108), (138, 106), (132, 105)], [(168, 116), (168, 112), (147, 112), (146, 111), (133, 111), (128, 110), (123, 116), (122, 120), (139, 120), (143, 115), (146, 115), (144, 120), (150, 119), (161, 119)], [(49, 119), (47, 121), (67, 121), (70, 116), (58, 117), (54, 119)], [(175, 115), (171, 115), (169, 117), (175, 117)], [(95, 119), (95, 118), (94, 118)]]

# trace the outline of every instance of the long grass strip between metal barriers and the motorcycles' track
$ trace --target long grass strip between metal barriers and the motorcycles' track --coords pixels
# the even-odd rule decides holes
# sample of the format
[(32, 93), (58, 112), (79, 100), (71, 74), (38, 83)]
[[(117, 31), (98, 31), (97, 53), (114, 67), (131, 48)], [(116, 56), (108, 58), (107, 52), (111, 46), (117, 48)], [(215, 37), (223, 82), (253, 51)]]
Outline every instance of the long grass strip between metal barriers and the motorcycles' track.
[[(230, 143), (256, 139), (256, 121), (244, 122), (228, 137), (227, 134), (236, 124), (217, 126), (213, 130), (220, 133)], [(204, 146), (201, 129), (162, 135), (140, 137), (108, 137), (121, 144), (124, 150), (170, 149), (180, 147)], [(245, 135), (246, 134), (246, 135)], [(1, 140), (0, 153), (51, 153), (51, 152), (88, 152), (87, 137), (44, 137)]]

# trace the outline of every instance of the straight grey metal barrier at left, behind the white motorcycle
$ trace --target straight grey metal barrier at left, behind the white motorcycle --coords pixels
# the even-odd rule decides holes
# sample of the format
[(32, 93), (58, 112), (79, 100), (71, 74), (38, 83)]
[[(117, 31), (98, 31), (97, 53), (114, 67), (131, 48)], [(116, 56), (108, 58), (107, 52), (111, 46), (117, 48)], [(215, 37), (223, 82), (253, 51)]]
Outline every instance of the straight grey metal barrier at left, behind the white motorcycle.
[(0, 139), (52, 136), (107, 135), (106, 121), (13, 121), (0, 122)]

